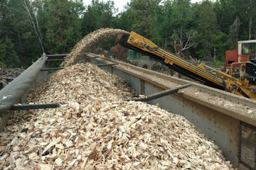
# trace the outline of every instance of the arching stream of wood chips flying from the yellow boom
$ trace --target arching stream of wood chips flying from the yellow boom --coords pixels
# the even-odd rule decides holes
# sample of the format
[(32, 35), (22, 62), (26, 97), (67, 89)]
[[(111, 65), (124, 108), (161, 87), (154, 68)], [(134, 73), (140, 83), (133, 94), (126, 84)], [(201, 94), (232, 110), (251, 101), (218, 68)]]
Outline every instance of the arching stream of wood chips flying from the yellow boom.
[(73, 50), (61, 65), (63, 67), (68, 67), (74, 64), (82, 55), (85, 54), (85, 52), (92, 52), (92, 50), (95, 50), (102, 40), (110, 40), (110, 38), (116, 38), (117, 35), (124, 33), (128, 32), (120, 29), (101, 28), (85, 35), (85, 37), (82, 38), (75, 47), (73, 47)]

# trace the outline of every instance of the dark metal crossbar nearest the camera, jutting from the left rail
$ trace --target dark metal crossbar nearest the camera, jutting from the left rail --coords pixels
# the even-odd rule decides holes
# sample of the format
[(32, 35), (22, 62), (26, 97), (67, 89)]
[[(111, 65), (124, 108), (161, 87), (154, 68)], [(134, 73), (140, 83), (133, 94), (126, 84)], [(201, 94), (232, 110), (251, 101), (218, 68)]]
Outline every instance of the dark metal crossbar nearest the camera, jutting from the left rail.
[(46, 108), (58, 108), (67, 103), (46, 103), (46, 104), (23, 104), (14, 105), (10, 108), (10, 111), (22, 111), (30, 109), (46, 109)]

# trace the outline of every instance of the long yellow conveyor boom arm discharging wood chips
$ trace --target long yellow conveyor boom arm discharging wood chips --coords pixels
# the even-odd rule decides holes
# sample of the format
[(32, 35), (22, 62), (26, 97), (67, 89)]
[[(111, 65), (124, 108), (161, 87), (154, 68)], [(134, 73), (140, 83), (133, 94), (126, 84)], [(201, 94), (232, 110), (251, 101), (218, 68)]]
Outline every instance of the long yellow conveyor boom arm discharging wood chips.
[(200, 66), (200, 64), (196, 66), (190, 62), (187, 62), (178, 55), (161, 49), (154, 44), (154, 42), (144, 38), (142, 35), (131, 32), (128, 37), (127, 35), (120, 37), (119, 43), (124, 47), (128, 47), (132, 50), (137, 50), (145, 53), (146, 55), (164, 60), (166, 64), (170, 64), (176, 68), (177, 72), (186, 74), (188, 77), (190, 75), (192, 78), (196, 77), (197, 80), (201, 80), (205, 84), (217, 87), (218, 89), (225, 89), (226, 91), (230, 91), (233, 94), (238, 94), (240, 96), (256, 98), (256, 86), (245, 86), (245, 82), (230, 77), (228, 74), (223, 72), (216, 72), (214, 74), (213, 72), (210, 72), (204, 67)]

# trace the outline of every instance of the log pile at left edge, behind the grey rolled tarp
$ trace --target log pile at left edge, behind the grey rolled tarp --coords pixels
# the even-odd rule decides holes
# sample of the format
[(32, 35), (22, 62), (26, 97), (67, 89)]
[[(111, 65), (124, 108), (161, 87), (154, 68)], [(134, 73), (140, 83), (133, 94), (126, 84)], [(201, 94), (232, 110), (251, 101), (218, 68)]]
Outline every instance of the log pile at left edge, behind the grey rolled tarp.
[(0, 89), (13, 81), (24, 69), (0, 69)]

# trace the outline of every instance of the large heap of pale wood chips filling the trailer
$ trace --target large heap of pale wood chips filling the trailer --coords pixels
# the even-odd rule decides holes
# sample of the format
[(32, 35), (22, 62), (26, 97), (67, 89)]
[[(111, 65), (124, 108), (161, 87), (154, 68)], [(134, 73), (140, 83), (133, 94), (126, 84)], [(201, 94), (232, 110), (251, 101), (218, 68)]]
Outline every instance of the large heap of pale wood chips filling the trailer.
[(131, 91), (91, 64), (58, 71), (29, 102), (68, 104), (16, 113), (0, 133), (1, 169), (232, 169), (181, 115), (123, 101)]

